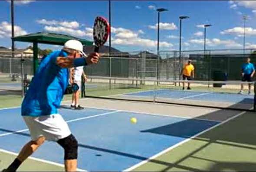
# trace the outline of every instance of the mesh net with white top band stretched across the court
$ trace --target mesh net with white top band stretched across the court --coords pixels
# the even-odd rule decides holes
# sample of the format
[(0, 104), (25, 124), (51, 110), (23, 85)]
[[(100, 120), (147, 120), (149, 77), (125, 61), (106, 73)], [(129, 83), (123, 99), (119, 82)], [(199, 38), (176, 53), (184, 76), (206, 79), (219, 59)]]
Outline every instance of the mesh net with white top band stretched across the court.
[[(184, 89), (183, 89), (184, 83)], [(190, 89), (187, 89), (190, 83)], [(244, 85), (240, 94), (241, 84)], [(248, 91), (251, 85), (251, 92)], [(86, 97), (256, 111), (256, 83), (88, 76)]]

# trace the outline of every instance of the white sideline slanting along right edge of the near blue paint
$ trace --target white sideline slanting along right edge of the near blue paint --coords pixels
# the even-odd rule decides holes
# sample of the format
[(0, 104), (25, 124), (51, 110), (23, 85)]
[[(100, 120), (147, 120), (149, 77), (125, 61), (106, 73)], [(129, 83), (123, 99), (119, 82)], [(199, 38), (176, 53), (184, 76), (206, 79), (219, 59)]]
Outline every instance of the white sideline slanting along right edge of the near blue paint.
[(186, 139), (186, 140), (184, 140), (184, 141), (182, 141), (182, 142), (180, 142), (180, 143), (177, 143), (177, 144), (175, 144), (175, 145), (173, 145), (173, 146), (167, 148), (166, 150), (163, 150), (162, 152), (160, 152), (160, 153), (158, 153), (158, 154), (156, 154), (156, 155), (154, 155), (154, 156), (151, 156), (151, 157), (148, 158), (147, 160), (141, 161), (141, 162), (139, 162), (138, 164), (136, 164), (136, 165), (134, 165), (134, 166), (131, 166), (131, 167), (128, 168), (128, 169), (125, 169), (123, 172), (129, 172), (129, 171), (131, 171), (131, 170), (133, 170), (133, 169), (136, 169), (136, 168), (138, 168), (139, 166), (142, 166), (143, 164), (149, 162), (150, 160), (153, 160), (153, 159), (157, 158), (158, 156), (161, 156), (161, 155), (163, 155), (164, 153), (167, 153), (168, 151), (174, 149), (175, 147), (178, 147), (178, 146), (180, 146), (180, 145), (182, 145), (182, 144), (188, 142), (189, 140), (191, 140), (191, 139), (193, 139), (193, 138), (195, 138), (195, 137), (197, 137), (197, 136), (199, 136), (199, 135), (201, 135), (201, 134), (203, 134), (203, 133), (206, 133), (207, 131), (212, 130), (213, 128), (216, 128), (216, 127), (218, 127), (218, 126), (220, 126), (220, 125), (222, 125), (222, 124), (225, 124), (226, 122), (228, 122), (228, 121), (230, 121), (230, 120), (233, 120), (234, 118), (237, 118), (237, 117), (239, 117), (240, 115), (243, 115), (244, 113), (246, 113), (246, 111), (243, 111), (243, 112), (241, 112), (240, 114), (235, 115), (235, 116), (233, 116), (232, 118), (229, 118), (229, 119), (227, 119), (227, 120), (221, 122), (220, 124), (214, 125), (213, 127), (210, 127), (210, 128), (208, 128), (207, 130), (204, 130), (204, 131), (202, 131), (202, 132), (200, 132), (200, 133), (194, 135), (193, 137), (190, 137), (190, 138), (188, 138), (188, 139)]

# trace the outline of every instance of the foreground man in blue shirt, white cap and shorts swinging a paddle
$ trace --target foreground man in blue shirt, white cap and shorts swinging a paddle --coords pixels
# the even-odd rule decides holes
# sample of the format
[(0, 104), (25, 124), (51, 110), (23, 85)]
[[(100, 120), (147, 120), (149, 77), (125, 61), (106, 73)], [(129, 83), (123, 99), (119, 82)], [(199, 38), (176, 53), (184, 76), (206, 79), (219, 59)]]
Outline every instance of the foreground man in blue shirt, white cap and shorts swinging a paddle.
[(89, 54), (86, 58), (81, 56), (86, 56), (82, 43), (69, 40), (61, 51), (52, 52), (42, 61), (21, 106), (21, 115), (30, 131), (31, 141), (4, 171), (16, 171), (45, 140), (55, 141), (64, 149), (66, 171), (77, 170), (78, 142), (57, 108), (69, 83), (68, 68), (98, 63), (98, 53)]

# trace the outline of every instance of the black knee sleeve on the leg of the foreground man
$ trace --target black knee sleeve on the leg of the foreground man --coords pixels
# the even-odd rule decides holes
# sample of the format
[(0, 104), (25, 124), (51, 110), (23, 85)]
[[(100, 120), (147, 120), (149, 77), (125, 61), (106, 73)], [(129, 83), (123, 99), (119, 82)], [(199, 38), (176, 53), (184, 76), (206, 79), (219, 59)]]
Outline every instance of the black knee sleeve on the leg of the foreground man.
[(70, 134), (68, 137), (57, 141), (64, 149), (64, 159), (77, 159), (78, 143), (75, 137)]

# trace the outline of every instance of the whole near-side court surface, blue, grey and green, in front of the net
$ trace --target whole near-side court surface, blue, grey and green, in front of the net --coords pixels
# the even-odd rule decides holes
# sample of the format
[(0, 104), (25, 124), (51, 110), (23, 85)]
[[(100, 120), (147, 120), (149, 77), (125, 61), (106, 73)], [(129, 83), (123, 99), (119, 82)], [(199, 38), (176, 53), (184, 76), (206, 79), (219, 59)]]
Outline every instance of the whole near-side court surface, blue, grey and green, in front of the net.
[[(213, 140), (206, 135), (240, 118), (243, 111), (91, 98), (81, 100), (84, 110), (72, 110), (68, 103), (62, 102), (59, 113), (79, 141), (79, 171), (205, 171), (216, 168), (211, 161), (218, 157), (216, 144), (229, 146), (226, 153), (234, 153), (233, 147), (243, 153), (254, 149), (245, 143), (238, 147), (242, 143), (232, 139)], [(131, 117), (137, 118), (138, 123), (131, 124)], [(30, 140), (30, 134), (20, 116), (20, 107), (0, 109), (0, 126), (1, 170)], [(227, 131), (217, 131), (223, 137), (221, 132)], [(62, 148), (46, 142), (19, 170), (63, 171), (62, 159)]]

